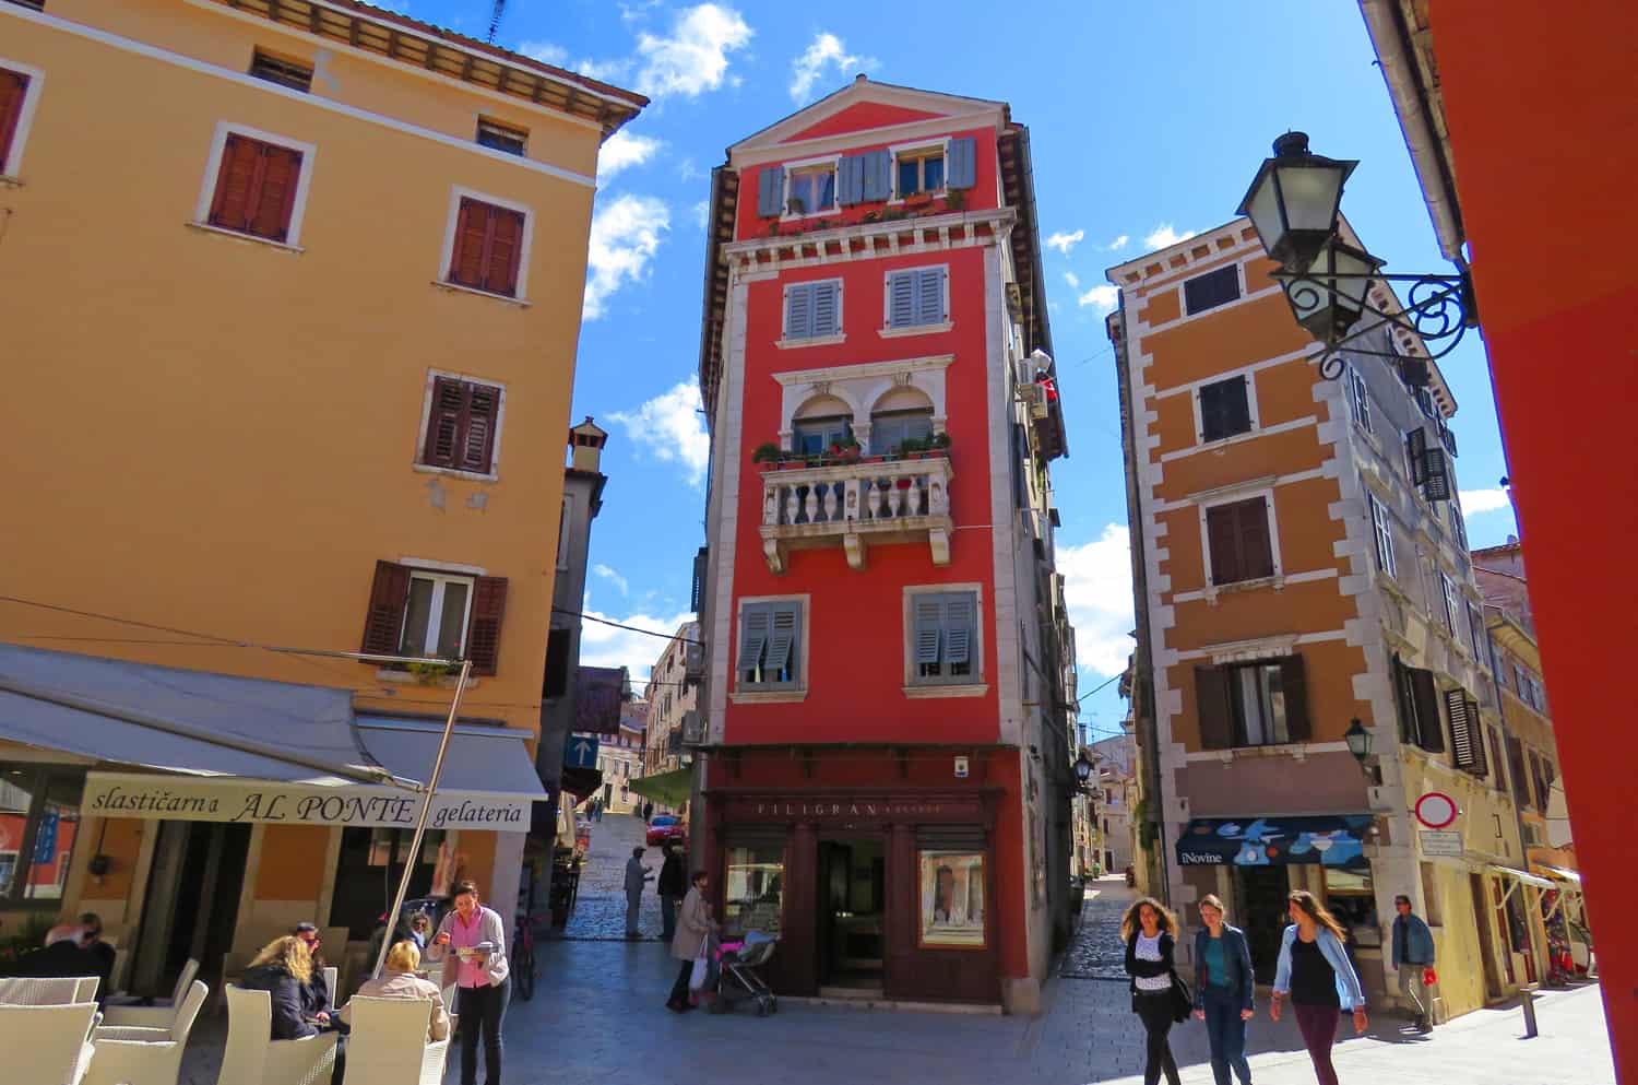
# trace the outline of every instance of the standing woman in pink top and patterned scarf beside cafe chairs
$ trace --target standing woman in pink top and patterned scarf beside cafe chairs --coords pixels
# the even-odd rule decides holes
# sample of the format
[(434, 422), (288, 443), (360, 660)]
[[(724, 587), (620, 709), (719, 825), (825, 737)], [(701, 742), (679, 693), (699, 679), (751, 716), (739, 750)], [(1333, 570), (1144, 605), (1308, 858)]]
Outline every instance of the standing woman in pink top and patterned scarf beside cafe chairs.
[[(454, 951), (454, 952), (450, 952)], [(478, 1039), (483, 1039), (483, 1080), (501, 1085), (501, 1019), (511, 998), (506, 964), (506, 924), (485, 908), (478, 887), (455, 882), (455, 910), (437, 924), (426, 951), (444, 962), (444, 987), (455, 992), (455, 1033), (460, 1037), (460, 1085), (478, 1085)]]

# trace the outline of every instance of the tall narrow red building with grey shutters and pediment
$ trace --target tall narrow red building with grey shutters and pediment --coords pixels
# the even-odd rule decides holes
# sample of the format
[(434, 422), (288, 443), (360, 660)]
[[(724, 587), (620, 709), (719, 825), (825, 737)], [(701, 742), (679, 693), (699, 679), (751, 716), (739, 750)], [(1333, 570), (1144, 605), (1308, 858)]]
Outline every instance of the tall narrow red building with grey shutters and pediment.
[(1030, 1010), (1068, 934), (1029, 133), (858, 77), (713, 174), (703, 857), (788, 993)]

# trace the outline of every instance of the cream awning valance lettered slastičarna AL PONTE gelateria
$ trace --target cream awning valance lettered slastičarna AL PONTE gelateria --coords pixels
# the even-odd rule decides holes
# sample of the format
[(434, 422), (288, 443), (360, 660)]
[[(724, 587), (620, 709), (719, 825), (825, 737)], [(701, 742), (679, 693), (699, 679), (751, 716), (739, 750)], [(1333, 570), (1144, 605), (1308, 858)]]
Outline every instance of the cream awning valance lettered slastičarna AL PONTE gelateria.
[[(92, 772), (82, 810), (97, 818), (414, 828), (423, 797), (390, 787), (310, 787), (274, 780)], [(431, 829), (527, 831), (527, 795), (460, 792), (432, 800)]]

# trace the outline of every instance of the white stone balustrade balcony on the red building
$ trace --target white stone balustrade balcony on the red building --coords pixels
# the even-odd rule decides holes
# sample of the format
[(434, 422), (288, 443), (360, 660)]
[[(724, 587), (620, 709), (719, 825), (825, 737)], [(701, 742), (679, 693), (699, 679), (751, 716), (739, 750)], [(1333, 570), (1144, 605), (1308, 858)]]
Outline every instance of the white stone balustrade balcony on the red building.
[(785, 572), (791, 551), (840, 546), (865, 567), (868, 542), (921, 542), (934, 565), (950, 564), (947, 456), (893, 462), (781, 467), (762, 475), (762, 554)]

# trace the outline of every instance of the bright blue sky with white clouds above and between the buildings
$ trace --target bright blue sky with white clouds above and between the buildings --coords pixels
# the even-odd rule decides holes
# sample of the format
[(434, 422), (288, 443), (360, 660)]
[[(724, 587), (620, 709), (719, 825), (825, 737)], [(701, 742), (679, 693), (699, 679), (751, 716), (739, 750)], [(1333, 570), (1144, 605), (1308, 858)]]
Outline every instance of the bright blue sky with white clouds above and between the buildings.
[[(488, 0), (408, 0), (483, 36)], [(604, 146), (575, 421), (611, 431), (586, 610), (670, 633), (703, 541), (706, 438), (695, 374), (709, 170), (724, 148), (839, 87), (883, 82), (998, 98), (1029, 125), (1071, 457), (1053, 469), (1081, 688), (1130, 651), (1130, 572), (1104, 270), (1233, 210), (1269, 143), (1307, 131), (1360, 159), (1343, 198), (1389, 272), (1438, 256), (1399, 125), (1353, 3), (1258, 0), (1006, 5), (608, 3), (511, 0), (496, 43), (654, 98)], [(1514, 531), (1482, 346), (1443, 361), (1474, 546)], [(586, 626), (583, 659), (634, 677), (663, 642)], [(1083, 703), (1091, 738), (1119, 726), (1111, 685)]]

